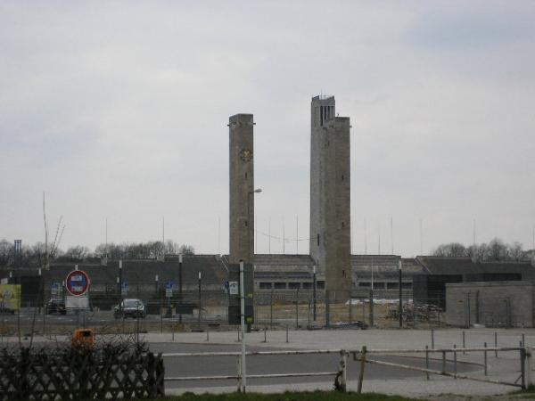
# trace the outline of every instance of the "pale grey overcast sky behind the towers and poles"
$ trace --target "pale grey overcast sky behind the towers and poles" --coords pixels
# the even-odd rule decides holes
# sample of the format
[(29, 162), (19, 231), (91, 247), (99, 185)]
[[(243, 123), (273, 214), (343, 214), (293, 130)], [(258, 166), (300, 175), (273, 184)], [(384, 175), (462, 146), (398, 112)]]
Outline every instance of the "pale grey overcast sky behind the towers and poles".
[[(351, 131), (352, 248), (535, 224), (535, 3), (0, 3), (0, 238), (228, 251), (228, 117), (253, 113), (258, 252), (309, 237), (310, 97)], [(420, 238), (420, 221), (423, 243)], [(220, 222), (220, 230), (218, 225)], [(271, 252), (283, 251), (273, 238)], [(296, 242), (285, 251), (295, 253)], [(307, 253), (308, 241), (299, 241)]]

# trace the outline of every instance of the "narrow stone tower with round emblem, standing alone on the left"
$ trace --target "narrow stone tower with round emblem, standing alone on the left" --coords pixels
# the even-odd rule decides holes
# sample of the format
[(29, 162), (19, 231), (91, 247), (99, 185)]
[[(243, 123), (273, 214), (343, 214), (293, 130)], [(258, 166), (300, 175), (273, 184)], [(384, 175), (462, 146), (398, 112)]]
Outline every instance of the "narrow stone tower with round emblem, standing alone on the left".
[(253, 263), (254, 168), (252, 114), (228, 119), (230, 162), (229, 262)]

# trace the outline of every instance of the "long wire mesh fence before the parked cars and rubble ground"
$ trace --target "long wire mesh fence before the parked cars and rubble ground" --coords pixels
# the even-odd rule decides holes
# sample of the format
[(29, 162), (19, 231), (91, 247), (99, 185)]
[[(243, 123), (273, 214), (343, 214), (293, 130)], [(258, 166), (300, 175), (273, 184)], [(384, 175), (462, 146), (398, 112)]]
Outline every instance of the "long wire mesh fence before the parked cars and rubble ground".
[[(45, 292), (45, 291), (44, 291)], [(139, 295), (139, 296), (138, 296)], [(138, 299), (138, 301), (134, 301)], [(436, 327), (443, 323), (443, 299), (415, 302), (410, 291), (402, 297), (404, 328)], [(0, 315), (0, 334), (71, 334), (89, 327), (97, 333), (234, 330), (228, 324), (228, 295), (224, 289), (123, 293), (90, 291), (86, 307), (71, 307), (70, 297), (47, 291), (22, 297), (21, 307)], [(316, 329), (321, 327), (399, 327), (399, 297), (341, 301), (325, 291), (257, 291), (253, 299), (252, 330)]]

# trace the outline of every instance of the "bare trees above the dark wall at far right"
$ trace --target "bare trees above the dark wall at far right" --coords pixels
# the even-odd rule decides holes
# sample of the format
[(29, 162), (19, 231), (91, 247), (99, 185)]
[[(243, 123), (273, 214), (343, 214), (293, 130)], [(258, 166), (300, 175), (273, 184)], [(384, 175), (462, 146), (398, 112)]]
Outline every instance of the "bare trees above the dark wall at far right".
[(489, 243), (465, 246), (460, 242), (439, 245), (433, 256), (446, 258), (473, 258), (484, 262), (529, 261), (535, 257), (535, 250), (523, 250), (520, 242), (506, 243), (494, 238)]

